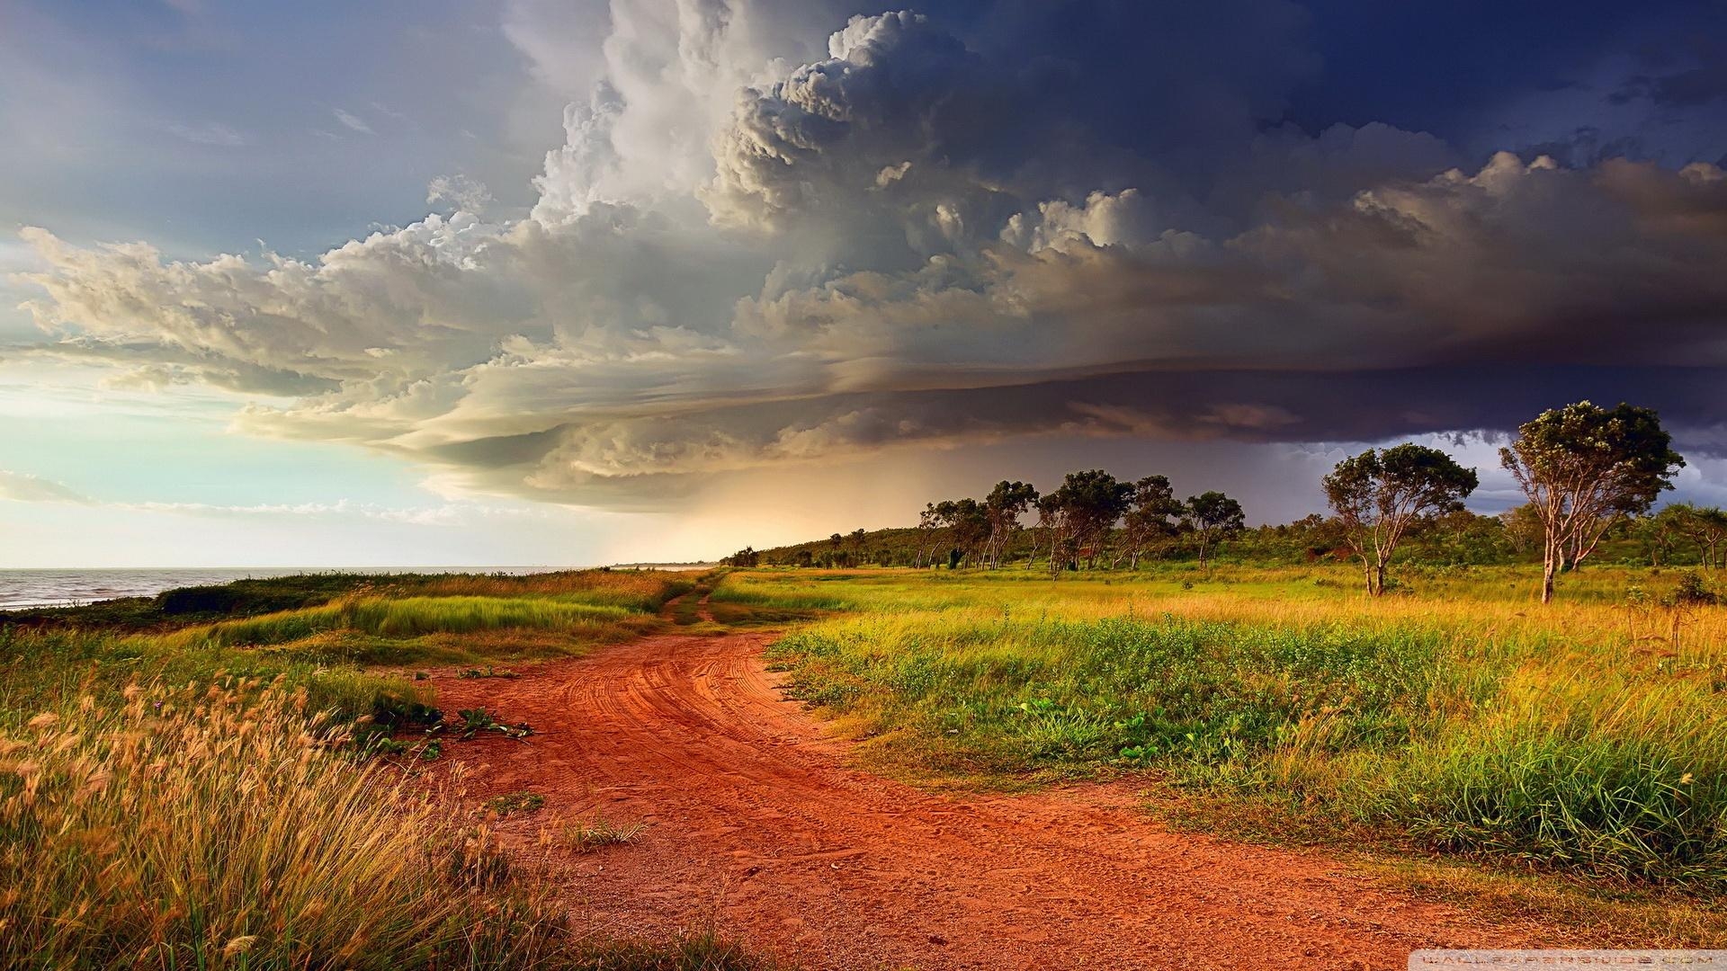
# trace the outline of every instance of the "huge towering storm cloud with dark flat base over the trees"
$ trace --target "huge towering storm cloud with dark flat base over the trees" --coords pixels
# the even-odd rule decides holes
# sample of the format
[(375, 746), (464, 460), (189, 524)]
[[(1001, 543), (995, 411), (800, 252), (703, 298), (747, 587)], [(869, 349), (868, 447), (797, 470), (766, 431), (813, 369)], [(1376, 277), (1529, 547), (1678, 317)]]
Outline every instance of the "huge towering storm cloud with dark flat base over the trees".
[[(539, 16), (511, 36), (549, 76)], [(454, 214), (309, 261), (26, 230), (31, 352), (613, 508), (882, 449), (1361, 441), (1582, 394), (1713, 423), (1727, 173), (1264, 124), (1316, 69), (1299, 10), (1173, 16), (620, 0), (558, 74), (591, 86), (530, 218), (446, 178)]]

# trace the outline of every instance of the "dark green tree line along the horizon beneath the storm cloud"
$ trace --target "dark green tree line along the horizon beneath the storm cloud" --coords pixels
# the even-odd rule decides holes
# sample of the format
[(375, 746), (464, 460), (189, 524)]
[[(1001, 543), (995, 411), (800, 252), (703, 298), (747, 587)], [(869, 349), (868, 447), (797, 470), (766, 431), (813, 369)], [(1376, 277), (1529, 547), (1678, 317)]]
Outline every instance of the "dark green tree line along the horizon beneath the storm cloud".
[(1727, 513), (1675, 503), (1649, 513), (1684, 458), (1648, 408), (1601, 408), (1589, 401), (1542, 411), (1499, 449), (1501, 466), (1527, 503), (1483, 517), (1463, 503), (1480, 484), (1442, 449), (1413, 442), (1366, 449), (1325, 475), (1330, 515), (1249, 529), (1242, 505), (1219, 491), (1176, 498), (1169, 479), (1123, 480), (1091, 468), (1071, 472), (1052, 492), (1017, 480), (984, 498), (927, 503), (912, 529), (832, 534), (824, 544), (774, 551), (746, 548), (739, 567), (862, 563), (1000, 568), (1022, 562), (1050, 575), (1069, 570), (1138, 568), (1147, 558), (1197, 558), (1209, 565), (1224, 544), (1249, 556), (1299, 549), (1307, 560), (1354, 558), (1371, 596), (1389, 589), (1394, 555), (1408, 543), (1451, 562), (1515, 562), (1535, 553), (1542, 601), (1554, 577), (1582, 565), (1603, 543), (1635, 543), (1653, 563), (1692, 546), (1705, 567), (1727, 567)]

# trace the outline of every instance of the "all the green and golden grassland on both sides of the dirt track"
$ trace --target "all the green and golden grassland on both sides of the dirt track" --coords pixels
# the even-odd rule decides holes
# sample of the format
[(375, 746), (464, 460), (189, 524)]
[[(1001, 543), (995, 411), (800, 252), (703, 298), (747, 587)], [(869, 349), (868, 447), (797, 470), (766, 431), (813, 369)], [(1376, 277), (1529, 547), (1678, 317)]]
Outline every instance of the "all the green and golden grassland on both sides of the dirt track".
[(28, 612), (0, 624), (0, 964), (755, 966), (575, 933), (484, 824), (356, 741), (435, 703), (421, 665), (496, 676), (737, 625), (784, 631), (769, 660), (794, 693), (924, 783), (1131, 774), (1183, 826), (1727, 942), (1727, 608), (1675, 596), (1696, 582), (1672, 570), (1584, 570), (1549, 608), (1527, 568), (1401, 581), (1368, 600), (1347, 567), (288, 577)]

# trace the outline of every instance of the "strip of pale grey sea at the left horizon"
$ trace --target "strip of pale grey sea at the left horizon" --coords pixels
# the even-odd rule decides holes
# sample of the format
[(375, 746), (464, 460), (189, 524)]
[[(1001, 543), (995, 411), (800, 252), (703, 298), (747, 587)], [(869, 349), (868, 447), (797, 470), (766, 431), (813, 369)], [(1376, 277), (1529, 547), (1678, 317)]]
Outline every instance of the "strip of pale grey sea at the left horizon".
[(0, 570), (0, 610), (67, 606), (116, 596), (155, 596), (164, 589), (228, 584), (249, 577), (295, 574), (539, 574), (568, 567), (242, 567), (242, 568), (104, 568)]

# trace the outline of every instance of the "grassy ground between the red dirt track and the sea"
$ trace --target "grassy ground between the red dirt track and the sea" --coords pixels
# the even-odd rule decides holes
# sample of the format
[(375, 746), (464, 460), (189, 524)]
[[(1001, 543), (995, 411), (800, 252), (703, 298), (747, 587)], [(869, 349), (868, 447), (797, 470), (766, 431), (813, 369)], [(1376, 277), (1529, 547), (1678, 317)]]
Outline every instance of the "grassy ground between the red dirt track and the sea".
[(380, 757), (435, 715), (414, 665), (577, 655), (689, 586), (285, 577), (0, 620), (0, 966), (760, 966), (577, 926), (459, 777), (420, 777), (435, 746)]

